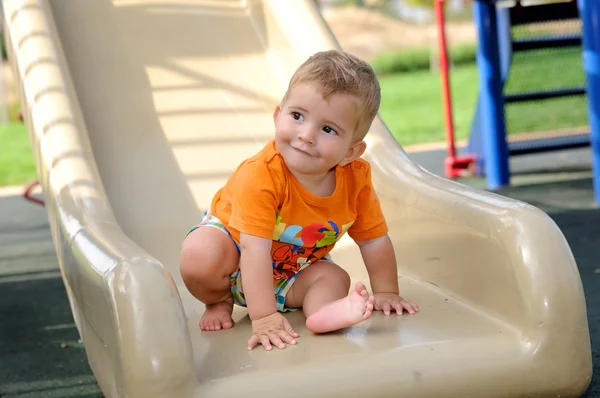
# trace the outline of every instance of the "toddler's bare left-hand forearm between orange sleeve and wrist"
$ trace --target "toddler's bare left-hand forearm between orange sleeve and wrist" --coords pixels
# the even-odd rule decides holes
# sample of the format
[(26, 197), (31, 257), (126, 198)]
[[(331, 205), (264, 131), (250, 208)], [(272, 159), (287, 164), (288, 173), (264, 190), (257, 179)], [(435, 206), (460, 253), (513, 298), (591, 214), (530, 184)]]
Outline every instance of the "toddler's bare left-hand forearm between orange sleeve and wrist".
[(271, 240), (240, 234), (240, 270), (248, 315), (253, 321), (277, 312), (273, 294)]

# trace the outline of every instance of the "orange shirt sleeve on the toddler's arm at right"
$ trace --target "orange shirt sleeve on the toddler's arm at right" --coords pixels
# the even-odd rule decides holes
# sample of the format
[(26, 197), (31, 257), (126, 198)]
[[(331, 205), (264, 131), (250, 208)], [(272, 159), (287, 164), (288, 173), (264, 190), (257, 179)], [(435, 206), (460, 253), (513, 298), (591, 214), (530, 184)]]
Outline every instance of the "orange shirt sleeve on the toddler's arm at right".
[(371, 183), (371, 167), (365, 162), (362, 184), (359, 186), (356, 206), (356, 221), (348, 230), (348, 235), (354, 240), (370, 240), (388, 233), (388, 226), (381, 210), (377, 193)]

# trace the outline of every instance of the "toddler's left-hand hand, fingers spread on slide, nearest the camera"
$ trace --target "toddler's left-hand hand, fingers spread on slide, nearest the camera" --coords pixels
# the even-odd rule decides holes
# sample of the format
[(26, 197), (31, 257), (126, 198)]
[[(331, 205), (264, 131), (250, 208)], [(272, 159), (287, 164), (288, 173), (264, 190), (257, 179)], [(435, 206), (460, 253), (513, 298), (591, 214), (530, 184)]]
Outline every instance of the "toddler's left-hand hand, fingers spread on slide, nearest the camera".
[(258, 344), (262, 344), (267, 351), (273, 348), (271, 344), (283, 349), (285, 343), (296, 344), (298, 337), (300, 335), (294, 331), (288, 320), (279, 312), (275, 312), (252, 321), (252, 337), (248, 340), (248, 350)]

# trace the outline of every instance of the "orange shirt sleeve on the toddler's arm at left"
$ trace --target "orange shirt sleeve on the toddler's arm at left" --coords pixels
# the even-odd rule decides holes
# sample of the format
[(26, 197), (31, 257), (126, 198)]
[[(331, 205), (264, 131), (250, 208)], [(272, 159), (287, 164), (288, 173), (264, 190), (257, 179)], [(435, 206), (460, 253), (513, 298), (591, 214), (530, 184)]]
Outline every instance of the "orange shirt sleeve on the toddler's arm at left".
[(261, 161), (238, 170), (229, 225), (241, 233), (271, 239), (283, 192), (281, 175)]

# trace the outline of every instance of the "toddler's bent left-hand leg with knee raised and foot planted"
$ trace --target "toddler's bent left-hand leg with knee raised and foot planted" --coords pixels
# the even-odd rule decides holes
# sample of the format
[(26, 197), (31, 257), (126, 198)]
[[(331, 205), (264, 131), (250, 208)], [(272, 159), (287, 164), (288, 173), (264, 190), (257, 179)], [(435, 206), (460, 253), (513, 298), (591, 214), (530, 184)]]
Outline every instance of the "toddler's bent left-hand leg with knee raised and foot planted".
[(190, 293), (206, 305), (200, 319), (202, 330), (233, 326), (229, 275), (239, 259), (233, 240), (215, 227), (200, 226), (183, 241), (179, 270)]

